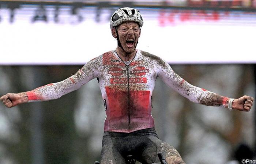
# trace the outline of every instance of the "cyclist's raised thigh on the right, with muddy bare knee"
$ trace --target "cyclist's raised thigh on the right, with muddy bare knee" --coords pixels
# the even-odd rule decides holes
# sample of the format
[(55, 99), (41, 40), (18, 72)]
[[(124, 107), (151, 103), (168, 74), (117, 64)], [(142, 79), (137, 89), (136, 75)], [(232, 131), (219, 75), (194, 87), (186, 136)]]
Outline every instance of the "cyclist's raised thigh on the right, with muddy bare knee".
[(171, 145), (159, 140), (155, 136), (148, 136), (148, 138), (148, 144), (142, 153), (141, 162), (143, 164), (160, 162), (157, 156), (158, 152), (162, 152), (165, 158), (173, 156), (181, 159), (181, 156), (178, 153), (178, 151)]

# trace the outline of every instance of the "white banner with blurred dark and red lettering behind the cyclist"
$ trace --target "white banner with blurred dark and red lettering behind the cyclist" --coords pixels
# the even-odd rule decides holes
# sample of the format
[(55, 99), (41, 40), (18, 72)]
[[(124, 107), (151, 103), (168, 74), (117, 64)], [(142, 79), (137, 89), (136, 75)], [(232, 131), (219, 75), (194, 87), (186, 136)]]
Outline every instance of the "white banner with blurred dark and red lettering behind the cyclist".
[[(80, 10), (83, 21), (68, 9), (53, 21), (31, 23), (36, 8), (0, 10), (0, 65), (83, 65), (116, 48), (105, 9)], [(140, 9), (144, 18), (137, 48), (168, 63), (256, 63), (256, 15), (244, 12)]]

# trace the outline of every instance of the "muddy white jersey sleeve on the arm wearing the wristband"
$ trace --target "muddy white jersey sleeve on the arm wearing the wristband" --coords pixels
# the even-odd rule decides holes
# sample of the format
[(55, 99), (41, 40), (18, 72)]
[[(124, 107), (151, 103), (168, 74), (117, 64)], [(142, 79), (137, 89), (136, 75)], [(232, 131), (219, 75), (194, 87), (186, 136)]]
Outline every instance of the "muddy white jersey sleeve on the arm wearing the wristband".
[(192, 102), (209, 106), (225, 107), (225, 103), (229, 98), (191, 85), (177, 75), (167, 62), (162, 59), (159, 61), (157, 75), (162, 79), (163, 82), (165, 82), (166, 85)]

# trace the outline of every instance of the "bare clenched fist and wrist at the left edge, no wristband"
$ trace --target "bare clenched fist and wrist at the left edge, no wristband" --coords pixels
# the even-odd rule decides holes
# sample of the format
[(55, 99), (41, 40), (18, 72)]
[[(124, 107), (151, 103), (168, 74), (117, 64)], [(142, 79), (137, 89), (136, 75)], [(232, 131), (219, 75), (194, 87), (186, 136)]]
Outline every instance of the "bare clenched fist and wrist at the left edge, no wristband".
[(0, 101), (2, 101), (7, 108), (12, 108), (18, 104), (28, 102), (29, 98), (25, 92), (7, 93), (0, 97)]

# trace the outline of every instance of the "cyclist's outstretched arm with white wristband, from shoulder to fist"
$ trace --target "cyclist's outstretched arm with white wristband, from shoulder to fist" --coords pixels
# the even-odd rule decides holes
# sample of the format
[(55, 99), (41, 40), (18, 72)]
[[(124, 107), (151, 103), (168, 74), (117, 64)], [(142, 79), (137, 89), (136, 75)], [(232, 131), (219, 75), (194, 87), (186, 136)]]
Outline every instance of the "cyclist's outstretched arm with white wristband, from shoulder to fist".
[(238, 99), (231, 99), (196, 87), (182, 79), (177, 75), (170, 65), (161, 60), (158, 69), (158, 76), (169, 86), (176, 90), (182, 96), (188, 98), (192, 102), (200, 103), (208, 106), (231, 107), (241, 111), (249, 111), (253, 105), (253, 98), (244, 95)]

